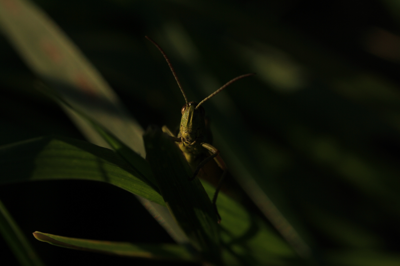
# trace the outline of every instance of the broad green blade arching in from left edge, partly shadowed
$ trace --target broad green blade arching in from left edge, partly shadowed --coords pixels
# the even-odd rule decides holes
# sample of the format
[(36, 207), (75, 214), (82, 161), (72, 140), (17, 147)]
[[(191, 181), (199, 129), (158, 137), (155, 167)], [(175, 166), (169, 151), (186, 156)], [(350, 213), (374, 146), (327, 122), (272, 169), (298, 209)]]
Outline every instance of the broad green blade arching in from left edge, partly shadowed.
[(41, 137), (0, 147), (1, 183), (82, 179), (103, 181), (164, 205), (161, 195), (135, 176), (115, 152), (64, 137)]

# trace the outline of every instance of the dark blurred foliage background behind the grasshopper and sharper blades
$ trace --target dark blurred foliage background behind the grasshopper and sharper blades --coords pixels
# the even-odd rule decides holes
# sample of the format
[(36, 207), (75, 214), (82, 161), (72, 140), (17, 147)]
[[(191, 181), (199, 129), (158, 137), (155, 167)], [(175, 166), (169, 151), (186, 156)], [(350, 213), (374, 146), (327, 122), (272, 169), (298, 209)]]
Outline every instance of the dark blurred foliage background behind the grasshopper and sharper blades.
[[(258, 177), (326, 263), (400, 264), (397, 1), (34, 2), (82, 49), (144, 128), (175, 128), (184, 104), (164, 59), (144, 35), (166, 51), (189, 100), (256, 72), (204, 104), (214, 144), (232, 175), (245, 178), (245, 169)], [(0, 47), (0, 143), (48, 134), (83, 139), (62, 110), (34, 89), (38, 78), (3, 37)], [(39, 230), (97, 239), (101, 232), (107, 240), (172, 242), (116, 187), (46, 181), (2, 185), (0, 195), (27, 235)], [(48, 265), (132, 263), (33, 245)], [(2, 248), (8, 248), (4, 242)], [(9, 258), (8, 265), (17, 265)]]

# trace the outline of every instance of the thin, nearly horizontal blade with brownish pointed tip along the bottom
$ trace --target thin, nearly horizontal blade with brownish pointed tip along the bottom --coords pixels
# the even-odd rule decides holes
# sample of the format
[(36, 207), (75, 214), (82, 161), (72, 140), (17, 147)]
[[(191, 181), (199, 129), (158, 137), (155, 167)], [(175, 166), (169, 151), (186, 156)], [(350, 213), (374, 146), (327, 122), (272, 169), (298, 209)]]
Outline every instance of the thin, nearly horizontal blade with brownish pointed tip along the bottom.
[(149, 258), (152, 260), (196, 262), (195, 258), (193, 258), (186, 248), (177, 244), (133, 244), (129, 242), (89, 240), (57, 236), (38, 231), (34, 232), (33, 235), (37, 240), (64, 248), (100, 252), (118, 256)]

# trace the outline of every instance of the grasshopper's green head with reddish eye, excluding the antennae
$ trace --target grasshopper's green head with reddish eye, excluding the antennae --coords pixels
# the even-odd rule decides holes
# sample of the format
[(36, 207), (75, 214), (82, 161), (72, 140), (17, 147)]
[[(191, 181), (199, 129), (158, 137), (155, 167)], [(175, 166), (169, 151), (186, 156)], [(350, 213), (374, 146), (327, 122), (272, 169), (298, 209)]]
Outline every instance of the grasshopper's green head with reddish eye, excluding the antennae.
[(192, 143), (204, 135), (204, 115), (206, 111), (203, 106), (196, 109), (197, 104), (197, 102), (188, 102), (181, 109), (182, 119), (179, 131), (186, 143)]

